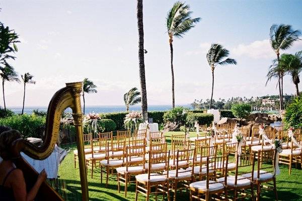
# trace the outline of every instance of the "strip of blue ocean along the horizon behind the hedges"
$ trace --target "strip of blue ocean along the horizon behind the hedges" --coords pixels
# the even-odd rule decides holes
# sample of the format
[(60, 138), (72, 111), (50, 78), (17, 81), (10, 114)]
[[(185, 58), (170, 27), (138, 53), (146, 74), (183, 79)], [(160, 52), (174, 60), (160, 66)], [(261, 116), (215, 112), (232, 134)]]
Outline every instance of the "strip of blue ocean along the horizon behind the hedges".
[[(188, 105), (180, 105), (189, 109), (192, 107)], [(14, 113), (20, 114), (22, 112), (21, 107), (8, 108)], [(45, 111), (47, 112), (47, 107), (25, 107), (24, 113), (31, 114), (33, 110)], [(158, 105), (158, 106), (148, 106), (148, 111), (168, 111), (171, 110), (172, 106), (169, 105)], [(82, 109), (83, 110), (83, 109)], [(141, 106), (130, 106), (129, 111), (141, 111)], [(71, 109), (66, 109), (66, 112), (71, 113)], [(126, 112), (125, 106), (87, 106), (85, 107), (85, 114), (88, 113), (113, 113), (113, 112)]]

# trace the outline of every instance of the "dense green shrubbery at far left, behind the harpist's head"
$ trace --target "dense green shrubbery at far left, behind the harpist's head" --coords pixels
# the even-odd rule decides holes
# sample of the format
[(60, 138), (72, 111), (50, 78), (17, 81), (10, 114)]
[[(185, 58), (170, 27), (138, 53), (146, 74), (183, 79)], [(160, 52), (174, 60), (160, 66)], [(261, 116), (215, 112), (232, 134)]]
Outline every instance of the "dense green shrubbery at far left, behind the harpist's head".
[(0, 125), (10, 126), (12, 129), (20, 131), (24, 138), (42, 138), (45, 121), (45, 117), (24, 114), (0, 119)]

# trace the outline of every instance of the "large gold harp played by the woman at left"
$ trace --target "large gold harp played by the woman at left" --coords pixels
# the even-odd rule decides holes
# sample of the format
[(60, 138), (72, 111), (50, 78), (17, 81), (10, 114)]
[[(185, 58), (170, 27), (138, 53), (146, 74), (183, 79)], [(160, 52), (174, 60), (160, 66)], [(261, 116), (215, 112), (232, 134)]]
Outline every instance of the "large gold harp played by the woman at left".
[[(81, 111), (81, 92), (82, 82), (66, 83), (66, 87), (58, 90), (50, 100), (47, 117), (46, 128), (41, 146), (36, 146), (27, 140), (19, 139), (13, 143), (11, 153), (14, 157), (15, 165), (22, 169), (26, 186), (30, 189), (37, 180), (38, 172), (33, 169), (26, 160), (21, 156), (20, 152), (33, 159), (43, 160), (47, 158), (53, 151), (57, 142), (59, 126), (62, 112), (66, 108), (71, 108), (73, 124), (77, 132), (77, 147), (79, 155), (79, 168), (81, 177), (82, 200), (88, 201), (88, 184), (84, 155), (84, 139), (82, 129), (82, 111)], [(54, 189), (45, 181), (42, 183), (35, 200), (63, 200)]]

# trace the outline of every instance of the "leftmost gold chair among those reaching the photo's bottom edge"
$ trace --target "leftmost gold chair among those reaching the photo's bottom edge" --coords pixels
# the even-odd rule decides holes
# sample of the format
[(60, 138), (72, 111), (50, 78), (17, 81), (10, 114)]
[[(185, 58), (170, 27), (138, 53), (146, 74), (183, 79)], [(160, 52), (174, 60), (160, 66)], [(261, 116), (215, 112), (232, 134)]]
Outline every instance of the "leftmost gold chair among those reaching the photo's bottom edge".
[[(135, 187), (135, 201), (137, 201), (138, 193), (146, 196), (146, 200), (149, 200), (150, 194), (168, 195), (170, 201), (169, 192), (169, 157), (170, 151), (168, 152), (152, 152), (149, 153), (150, 157), (148, 163), (145, 164), (147, 173), (138, 174), (135, 176), (136, 187)], [(160, 174), (158, 172), (165, 172)], [(152, 189), (155, 188), (155, 191)]]

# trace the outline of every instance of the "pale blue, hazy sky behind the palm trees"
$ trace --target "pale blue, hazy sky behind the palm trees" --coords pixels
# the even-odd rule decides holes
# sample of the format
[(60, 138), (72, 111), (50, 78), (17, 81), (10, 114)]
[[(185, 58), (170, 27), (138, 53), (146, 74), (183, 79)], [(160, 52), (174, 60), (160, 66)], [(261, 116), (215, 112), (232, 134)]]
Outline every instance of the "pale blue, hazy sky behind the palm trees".
[[(166, 16), (175, 1), (144, 0), (144, 48), (148, 105), (171, 105), (170, 47)], [(230, 50), (238, 65), (215, 69), (213, 98), (277, 94), (276, 80), (265, 86), (276, 57), (269, 43), (272, 24), (302, 30), (302, 1), (186, 1), (201, 21), (182, 39), (174, 39), (176, 105), (210, 98), (211, 71), (206, 53), (211, 43)], [(66, 82), (85, 77), (97, 85), (86, 95), (88, 106), (123, 105), (123, 94), (140, 88), (136, 1), (1, 1), (0, 21), (20, 36), (19, 74), (36, 84), (26, 88), (25, 106), (47, 106)], [(286, 50), (302, 50), (302, 41)], [(284, 51), (282, 52), (284, 53)], [(299, 87), (302, 88), (301, 83)], [(6, 83), (6, 103), (22, 106), (23, 85)], [(295, 92), (289, 75), (284, 93)], [(3, 96), (0, 95), (0, 105)]]

